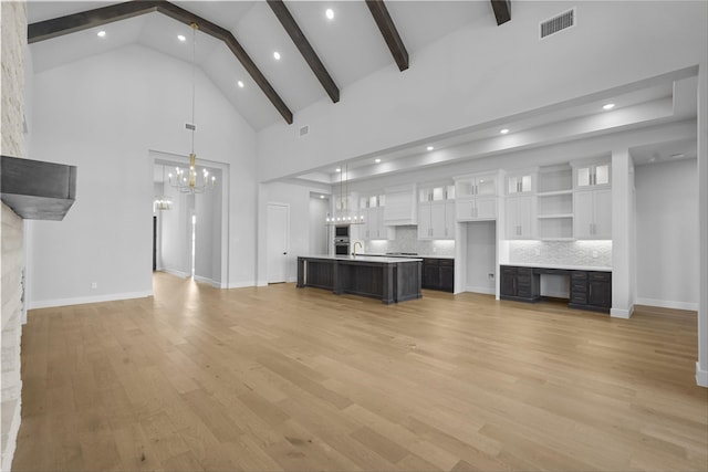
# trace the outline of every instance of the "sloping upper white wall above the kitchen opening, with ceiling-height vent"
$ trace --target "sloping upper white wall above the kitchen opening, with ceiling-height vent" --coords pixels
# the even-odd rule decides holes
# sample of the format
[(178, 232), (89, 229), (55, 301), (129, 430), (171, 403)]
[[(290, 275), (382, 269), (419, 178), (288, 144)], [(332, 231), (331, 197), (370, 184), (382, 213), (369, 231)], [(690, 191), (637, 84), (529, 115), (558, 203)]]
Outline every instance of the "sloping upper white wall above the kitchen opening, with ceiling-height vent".
[[(577, 24), (538, 41), (575, 7)], [(512, 21), (470, 24), (258, 134), (260, 181), (419, 141), (699, 64), (708, 3), (513, 2)], [(658, 27), (655, 27), (658, 25)], [(493, 44), (493, 49), (490, 49)], [(292, 129), (308, 125), (300, 138)]]

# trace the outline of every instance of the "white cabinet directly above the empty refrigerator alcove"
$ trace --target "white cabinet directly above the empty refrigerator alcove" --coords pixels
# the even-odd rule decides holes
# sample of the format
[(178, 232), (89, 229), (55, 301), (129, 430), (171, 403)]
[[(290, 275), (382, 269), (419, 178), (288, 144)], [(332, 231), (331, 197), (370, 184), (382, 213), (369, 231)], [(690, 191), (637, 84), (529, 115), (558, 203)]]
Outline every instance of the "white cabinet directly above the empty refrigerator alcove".
[(497, 175), (480, 174), (455, 179), (455, 216), (457, 221), (497, 218)]

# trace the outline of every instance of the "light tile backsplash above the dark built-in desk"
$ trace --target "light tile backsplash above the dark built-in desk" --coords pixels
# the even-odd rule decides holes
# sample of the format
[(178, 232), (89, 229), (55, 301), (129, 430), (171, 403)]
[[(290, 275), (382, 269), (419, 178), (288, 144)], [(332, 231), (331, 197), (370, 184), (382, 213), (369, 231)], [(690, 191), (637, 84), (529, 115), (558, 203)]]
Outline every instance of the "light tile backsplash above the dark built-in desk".
[(509, 241), (509, 263), (612, 266), (612, 241)]

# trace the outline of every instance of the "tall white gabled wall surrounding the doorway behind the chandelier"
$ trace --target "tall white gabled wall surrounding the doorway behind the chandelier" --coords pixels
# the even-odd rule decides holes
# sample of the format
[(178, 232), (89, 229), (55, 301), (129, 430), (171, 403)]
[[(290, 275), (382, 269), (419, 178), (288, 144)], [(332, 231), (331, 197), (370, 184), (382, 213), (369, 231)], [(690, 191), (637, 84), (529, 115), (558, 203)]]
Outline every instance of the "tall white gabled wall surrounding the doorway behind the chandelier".
[[(149, 150), (189, 154), (190, 97), (191, 65), (140, 45), (34, 75), (32, 158), (79, 178), (61, 224), (31, 224), (31, 306), (152, 293)], [(198, 159), (230, 164), (229, 282), (253, 284), (254, 133), (200, 72), (195, 120)]]

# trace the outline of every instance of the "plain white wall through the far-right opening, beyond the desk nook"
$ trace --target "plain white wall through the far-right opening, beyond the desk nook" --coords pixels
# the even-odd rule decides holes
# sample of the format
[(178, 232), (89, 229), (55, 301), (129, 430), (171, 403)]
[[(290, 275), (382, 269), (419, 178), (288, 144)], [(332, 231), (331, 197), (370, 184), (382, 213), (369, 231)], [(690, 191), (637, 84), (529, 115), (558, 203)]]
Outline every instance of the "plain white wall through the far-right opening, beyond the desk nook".
[(696, 159), (635, 167), (637, 303), (698, 310)]

